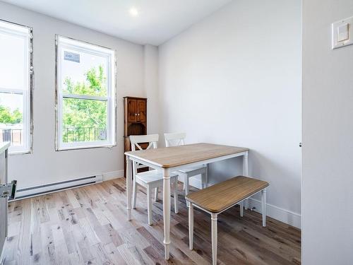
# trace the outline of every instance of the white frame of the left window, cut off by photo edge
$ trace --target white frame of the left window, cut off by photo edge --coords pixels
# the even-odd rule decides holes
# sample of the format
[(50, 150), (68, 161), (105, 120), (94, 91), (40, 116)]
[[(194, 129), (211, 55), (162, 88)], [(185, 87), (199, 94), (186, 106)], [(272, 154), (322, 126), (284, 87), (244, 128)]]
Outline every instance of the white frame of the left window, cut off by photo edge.
[[(11, 93), (17, 95), (23, 95), (23, 134), (22, 143), (23, 146), (10, 146), (8, 148), (9, 154), (23, 154), (32, 153), (32, 132), (33, 132), (33, 112), (32, 112), (32, 90), (33, 90), (33, 29), (25, 25), (19, 25), (6, 20), (0, 19), (0, 30), (2, 33), (8, 33), (9, 35), (17, 35), (27, 39), (27, 45), (25, 47), (25, 54), (27, 60), (27, 69), (25, 69), (25, 85), (23, 88), (1, 88), (1, 93)], [(27, 52), (26, 52), (27, 51)]]

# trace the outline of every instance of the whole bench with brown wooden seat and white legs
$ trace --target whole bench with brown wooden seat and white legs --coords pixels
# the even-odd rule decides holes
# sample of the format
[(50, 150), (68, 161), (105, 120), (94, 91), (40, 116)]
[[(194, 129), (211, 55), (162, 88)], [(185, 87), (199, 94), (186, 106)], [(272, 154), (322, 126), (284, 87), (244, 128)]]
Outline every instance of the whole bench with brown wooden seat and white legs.
[(244, 200), (261, 192), (263, 227), (266, 226), (266, 187), (268, 182), (238, 176), (186, 196), (189, 201), (189, 247), (193, 249), (193, 206), (210, 213), (212, 225), (212, 263), (217, 264), (217, 216), (222, 211), (240, 205), (243, 216)]

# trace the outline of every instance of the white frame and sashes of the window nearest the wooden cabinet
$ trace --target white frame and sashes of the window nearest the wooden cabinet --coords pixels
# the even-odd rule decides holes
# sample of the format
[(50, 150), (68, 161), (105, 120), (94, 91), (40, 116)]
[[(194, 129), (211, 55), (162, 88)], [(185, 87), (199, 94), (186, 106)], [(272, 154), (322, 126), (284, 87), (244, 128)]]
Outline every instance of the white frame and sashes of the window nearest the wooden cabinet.
[[(94, 45), (88, 42), (75, 40), (70, 37), (55, 35), (56, 52), (56, 151), (75, 150), (82, 148), (100, 148), (116, 146), (116, 62), (115, 51), (100, 45)], [(107, 57), (107, 96), (95, 95), (73, 95), (63, 93), (61, 76), (61, 49), (71, 49), (78, 52), (87, 52), (89, 54)], [(102, 100), (107, 102), (107, 141), (76, 141), (64, 143), (63, 141), (63, 99), (77, 98), (80, 100)]]

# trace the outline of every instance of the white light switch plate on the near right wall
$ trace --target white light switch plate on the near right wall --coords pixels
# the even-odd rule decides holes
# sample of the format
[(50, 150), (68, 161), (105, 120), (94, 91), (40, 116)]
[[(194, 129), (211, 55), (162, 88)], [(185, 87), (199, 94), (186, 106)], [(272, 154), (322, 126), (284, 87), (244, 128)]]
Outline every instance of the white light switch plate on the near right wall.
[(353, 45), (353, 16), (332, 24), (332, 48)]

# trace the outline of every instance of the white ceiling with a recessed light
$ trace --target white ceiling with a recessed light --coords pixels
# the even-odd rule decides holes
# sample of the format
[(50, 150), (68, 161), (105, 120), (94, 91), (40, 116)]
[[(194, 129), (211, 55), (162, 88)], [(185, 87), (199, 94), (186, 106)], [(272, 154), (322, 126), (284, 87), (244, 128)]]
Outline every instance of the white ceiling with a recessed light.
[[(232, 0), (2, 1), (131, 42), (160, 45)], [(131, 16), (131, 8), (138, 16)]]

